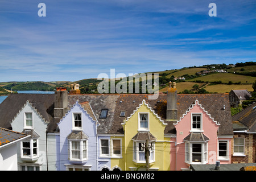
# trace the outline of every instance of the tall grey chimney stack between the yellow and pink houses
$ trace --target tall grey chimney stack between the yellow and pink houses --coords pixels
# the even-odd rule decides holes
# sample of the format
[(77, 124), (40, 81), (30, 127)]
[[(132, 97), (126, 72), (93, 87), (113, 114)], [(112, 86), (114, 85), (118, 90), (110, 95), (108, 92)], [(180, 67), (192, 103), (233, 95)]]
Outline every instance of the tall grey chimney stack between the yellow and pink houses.
[(167, 89), (166, 119), (177, 120), (177, 89), (176, 82), (169, 82)]

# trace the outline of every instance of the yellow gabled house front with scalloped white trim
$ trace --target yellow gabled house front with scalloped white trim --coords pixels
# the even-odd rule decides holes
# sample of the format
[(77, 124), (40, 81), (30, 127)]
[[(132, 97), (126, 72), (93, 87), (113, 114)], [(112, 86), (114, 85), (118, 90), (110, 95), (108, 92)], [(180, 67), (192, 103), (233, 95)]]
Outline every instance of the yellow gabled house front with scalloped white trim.
[[(142, 101), (130, 117), (122, 123), (123, 170), (146, 170), (145, 150), (148, 148), (148, 169), (168, 170), (170, 166), (170, 138), (164, 138), (164, 123), (145, 100)], [(146, 145), (148, 141), (148, 147)], [(112, 160), (112, 166), (115, 166)], [(118, 164), (117, 164), (118, 165)], [(166, 166), (165, 166), (166, 165)]]

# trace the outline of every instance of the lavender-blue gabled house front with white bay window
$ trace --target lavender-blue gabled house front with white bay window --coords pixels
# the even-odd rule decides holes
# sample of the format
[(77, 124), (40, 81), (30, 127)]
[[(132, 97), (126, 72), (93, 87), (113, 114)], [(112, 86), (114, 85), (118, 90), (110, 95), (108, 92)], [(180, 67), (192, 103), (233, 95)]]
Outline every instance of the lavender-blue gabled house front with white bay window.
[(57, 170), (97, 171), (98, 122), (89, 102), (76, 101), (57, 126)]

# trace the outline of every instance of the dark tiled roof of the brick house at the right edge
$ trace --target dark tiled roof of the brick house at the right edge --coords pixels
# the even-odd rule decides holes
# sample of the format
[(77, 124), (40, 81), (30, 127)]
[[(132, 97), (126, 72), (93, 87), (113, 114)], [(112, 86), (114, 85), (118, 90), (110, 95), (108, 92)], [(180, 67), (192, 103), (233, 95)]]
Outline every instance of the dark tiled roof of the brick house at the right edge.
[(240, 125), (243, 125), (243, 129), (246, 129), (249, 132), (256, 132), (256, 102), (254, 104), (246, 107), (239, 113), (232, 116), (232, 121), (234, 124), (234, 130), (238, 130), (237, 121), (240, 122)]

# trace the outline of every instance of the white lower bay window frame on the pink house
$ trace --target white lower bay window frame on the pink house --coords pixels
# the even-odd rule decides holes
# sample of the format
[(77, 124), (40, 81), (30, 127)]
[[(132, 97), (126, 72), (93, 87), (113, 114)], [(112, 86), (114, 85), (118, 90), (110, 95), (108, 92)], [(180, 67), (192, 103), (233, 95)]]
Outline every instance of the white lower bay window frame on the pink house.
[[(201, 162), (193, 162), (193, 144), (201, 144)], [(208, 163), (208, 142), (185, 142), (185, 163), (207, 164)]]

